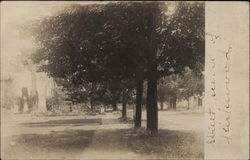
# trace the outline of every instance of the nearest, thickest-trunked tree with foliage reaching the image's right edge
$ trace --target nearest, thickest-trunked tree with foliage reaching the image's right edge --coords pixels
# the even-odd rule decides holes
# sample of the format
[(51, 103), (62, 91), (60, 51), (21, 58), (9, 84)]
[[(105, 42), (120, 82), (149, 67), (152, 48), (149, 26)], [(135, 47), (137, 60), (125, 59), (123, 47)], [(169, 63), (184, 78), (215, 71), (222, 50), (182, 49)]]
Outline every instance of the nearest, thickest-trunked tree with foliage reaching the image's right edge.
[(186, 66), (200, 72), (199, 65), (204, 64), (204, 4), (180, 2), (171, 17), (162, 14), (162, 8), (160, 3), (153, 3), (147, 19), (147, 129), (152, 134), (158, 130), (157, 77), (172, 74), (171, 70), (181, 73)]

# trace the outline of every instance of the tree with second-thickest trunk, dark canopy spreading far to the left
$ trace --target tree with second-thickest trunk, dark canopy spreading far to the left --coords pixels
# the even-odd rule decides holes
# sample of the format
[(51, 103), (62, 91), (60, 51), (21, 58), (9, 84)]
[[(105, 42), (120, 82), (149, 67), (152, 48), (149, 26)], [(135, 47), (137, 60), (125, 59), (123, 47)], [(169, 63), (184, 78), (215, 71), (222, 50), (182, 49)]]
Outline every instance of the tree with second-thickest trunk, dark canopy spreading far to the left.
[[(109, 4), (105, 9), (72, 6), (65, 13), (39, 22), (33, 35), (41, 46), (36, 57), (48, 62), (42, 69), (52, 77), (67, 79), (76, 86), (107, 80), (117, 84), (121, 79), (131, 81), (136, 77), (135, 126), (140, 127), (144, 53), (139, 52), (135, 43), (138, 23), (131, 23), (134, 15), (130, 11), (136, 12), (136, 4)], [(138, 14), (136, 18), (140, 19)]]

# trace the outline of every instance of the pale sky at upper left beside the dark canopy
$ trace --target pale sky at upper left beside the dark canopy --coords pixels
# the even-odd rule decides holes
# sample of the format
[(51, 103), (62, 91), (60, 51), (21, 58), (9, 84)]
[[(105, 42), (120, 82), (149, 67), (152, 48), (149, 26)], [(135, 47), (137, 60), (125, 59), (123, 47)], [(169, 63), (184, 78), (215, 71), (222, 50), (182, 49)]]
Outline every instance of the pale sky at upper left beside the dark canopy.
[(20, 26), (29, 20), (52, 15), (58, 10), (62, 10), (65, 6), (73, 3), (84, 5), (104, 2), (1, 2), (1, 76), (13, 73), (19, 60), (17, 55), (34, 46), (30, 37), (21, 35)]

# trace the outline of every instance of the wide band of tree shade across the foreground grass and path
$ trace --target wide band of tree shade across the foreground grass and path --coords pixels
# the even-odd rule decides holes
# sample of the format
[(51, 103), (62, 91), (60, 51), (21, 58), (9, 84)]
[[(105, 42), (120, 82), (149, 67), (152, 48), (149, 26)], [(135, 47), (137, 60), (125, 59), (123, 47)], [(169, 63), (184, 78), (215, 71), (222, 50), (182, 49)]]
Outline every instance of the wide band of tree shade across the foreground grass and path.
[[(156, 158), (199, 158), (204, 157), (203, 135), (191, 132), (159, 130), (151, 137), (144, 129), (105, 129), (105, 130), (64, 130), (50, 134), (23, 134), (13, 136), (15, 152), (48, 154), (72, 158), (85, 149), (98, 153), (105, 151), (128, 151)], [(16, 148), (13, 150), (13, 148)], [(14, 152), (15, 151), (15, 152)], [(28, 152), (27, 152), (28, 151)], [(9, 152), (8, 152), (9, 153)], [(70, 153), (70, 155), (69, 155)], [(18, 155), (18, 154), (17, 154)], [(57, 157), (58, 158), (58, 157)], [(123, 157), (127, 158), (127, 157)]]

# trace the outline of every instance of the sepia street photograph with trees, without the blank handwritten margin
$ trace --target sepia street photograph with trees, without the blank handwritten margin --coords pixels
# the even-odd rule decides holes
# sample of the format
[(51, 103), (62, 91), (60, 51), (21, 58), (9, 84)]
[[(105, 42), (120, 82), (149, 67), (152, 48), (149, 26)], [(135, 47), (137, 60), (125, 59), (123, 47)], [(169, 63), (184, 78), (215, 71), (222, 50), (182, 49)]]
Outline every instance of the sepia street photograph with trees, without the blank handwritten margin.
[(1, 158), (205, 159), (206, 36), (205, 2), (1, 2)]

